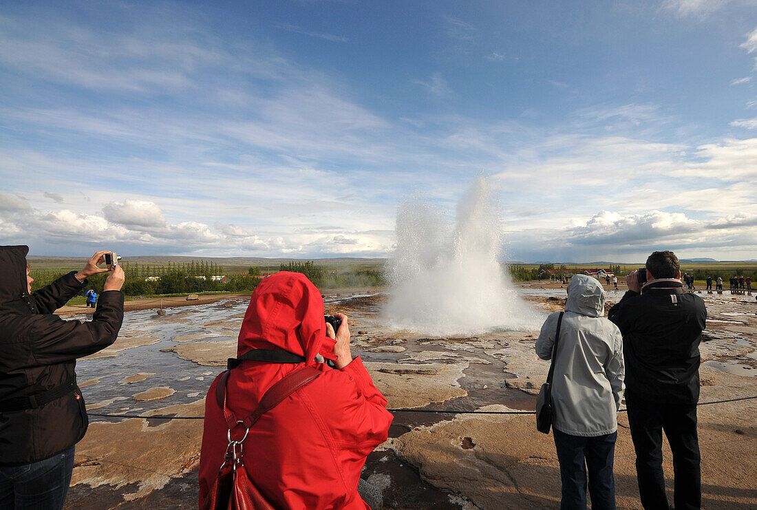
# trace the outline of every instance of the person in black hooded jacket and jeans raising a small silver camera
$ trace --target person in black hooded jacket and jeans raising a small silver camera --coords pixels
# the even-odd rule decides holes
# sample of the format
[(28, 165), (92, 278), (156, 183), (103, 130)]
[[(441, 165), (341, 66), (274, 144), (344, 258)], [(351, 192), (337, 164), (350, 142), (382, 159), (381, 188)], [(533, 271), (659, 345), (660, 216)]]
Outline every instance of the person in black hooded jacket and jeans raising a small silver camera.
[[(89, 421), (76, 385), (76, 358), (116, 341), (123, 322), (120, 266), (99, 268), (98, 251), (80, 272), (32, 294), (26, 246), (0, 246), (0, 508), (63, 508), (74, 446)], [(53, 315), (111, 271), (92, 322)]]

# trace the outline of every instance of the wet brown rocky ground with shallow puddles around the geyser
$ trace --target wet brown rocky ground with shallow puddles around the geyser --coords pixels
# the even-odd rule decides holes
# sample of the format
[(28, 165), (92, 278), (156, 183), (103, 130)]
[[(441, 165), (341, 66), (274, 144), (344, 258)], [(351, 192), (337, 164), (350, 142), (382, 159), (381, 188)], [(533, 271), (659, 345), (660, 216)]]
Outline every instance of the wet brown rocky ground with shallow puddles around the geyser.
[[(610, 290), (609, 300), (621, 291)], [(559, 284), (526, 285), (522, 292), (545, 312), (564, 304)], [(757, 395), (757, 302), (700, 295), (709, 313), (701, 402)], [(374, 505), (557, 508), (552, 438), (536, 431), (534, 415), (501, 414), (534, 409), (548, 369), (534, 355), (538, 331), (473, 337), (392, 331), (381, 317), (383, 300), (383, 294), (350, 293), (329, 295), (326, 303), (326, 313), (350, 316), (354, 354), (396, 409), (390, 439), (363, 471), (363, 490)], [(79, 362), (93, 415), (141, 417), (92, 416), (76, 447), (66, 508), (196, 508), (202, 421), (194, 418), (202, 415), (213, 377), (235, 354), (246, 304), (223, 300), (168, 309), (162, 317), (154, 310), (127, 313), (117, 343)], [(757, 400), (700, 406), (704, 508), (757, 508), (757, 467), (749, 460), (757, 456), (755, 411)], [(640, 508), (625, 413), (618, 422), (618, 507)], [(672, 490), (667, 449), (664, 468)]]

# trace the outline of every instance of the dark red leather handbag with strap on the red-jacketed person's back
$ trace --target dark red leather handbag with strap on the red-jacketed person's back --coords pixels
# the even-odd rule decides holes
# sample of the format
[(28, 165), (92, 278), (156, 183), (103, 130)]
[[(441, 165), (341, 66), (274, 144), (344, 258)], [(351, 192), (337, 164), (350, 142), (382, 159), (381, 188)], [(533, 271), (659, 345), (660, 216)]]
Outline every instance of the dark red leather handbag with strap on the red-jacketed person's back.
[[(305, 384), (317, 378), (321, 372), (306, 366), (286, 375), (274, 384), (260, 399), (255, 410), (244, 420), (237, 420), (226, 407), (226, 381), (229, 380), (229, 370), (223, 372), (216, 386), (216, 400), (223, 409), (223, 417), (229, 425), (229, 446), (223, 456), (223, 465), (218, 471), (213, 487), (207, 493), (202, 510), (274, 510), (260, 490), (257, 490), (245, 468), (242, 448), (247, 439), (250, 428), (265, 412), (278, 406), (287, 396), (299, 390)], [(233, 440), (232, 431), (245, 431), (241, 439)], [(236, 434), (237, 436), (239, 434)]]

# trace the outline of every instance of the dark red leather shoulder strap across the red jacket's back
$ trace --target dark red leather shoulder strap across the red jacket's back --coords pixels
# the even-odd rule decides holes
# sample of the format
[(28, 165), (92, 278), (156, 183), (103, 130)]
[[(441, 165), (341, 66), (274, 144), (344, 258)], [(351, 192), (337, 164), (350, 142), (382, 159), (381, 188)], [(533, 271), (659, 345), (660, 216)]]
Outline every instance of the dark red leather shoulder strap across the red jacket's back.
[(286, 397), (321, 375), (321, 372), (312, 366), (304, 366), (301, 369), (290, 372), (280, 381), (277, 381), (276, 384), (273, 384), (272, 387), (269, 387), (251, 415), (244, 420), (238, 421), (229, 407), (226, 406), (226, 383), (229, 381), (229, 372), (229, 370), (223, 372), (216, 387), (216, 399), (219, 406), (223, 409), (223, 417), (226, 419), (229, 429), (233, 429), (238, 425), (241, 425), (243, 428), (251, 428), (260, 416), (278, 406)]

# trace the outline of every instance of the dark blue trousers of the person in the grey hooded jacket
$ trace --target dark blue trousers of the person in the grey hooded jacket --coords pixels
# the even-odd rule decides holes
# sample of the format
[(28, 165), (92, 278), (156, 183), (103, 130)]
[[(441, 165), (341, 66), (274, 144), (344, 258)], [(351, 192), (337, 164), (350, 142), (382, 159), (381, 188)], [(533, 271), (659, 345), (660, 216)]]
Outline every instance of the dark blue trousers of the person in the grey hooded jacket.
[(589, 471), (589, 496), (592, 510), (615, 509), (615, 440), (618, 433), (581, 437), (552, 429), (562, 480), (561, 510), (586, 508), (586, 471)]

